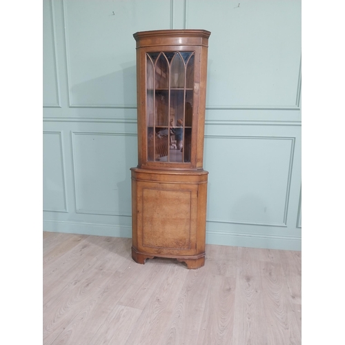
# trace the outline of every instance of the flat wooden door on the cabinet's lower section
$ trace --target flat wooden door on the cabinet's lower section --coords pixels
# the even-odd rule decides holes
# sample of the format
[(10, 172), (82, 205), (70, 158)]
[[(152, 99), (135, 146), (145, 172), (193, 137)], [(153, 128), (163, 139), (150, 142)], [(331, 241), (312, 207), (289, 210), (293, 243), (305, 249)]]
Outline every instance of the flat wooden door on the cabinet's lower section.
[(138, 181), (139, 251), (193, 255), (197, 251), (197, 184)]

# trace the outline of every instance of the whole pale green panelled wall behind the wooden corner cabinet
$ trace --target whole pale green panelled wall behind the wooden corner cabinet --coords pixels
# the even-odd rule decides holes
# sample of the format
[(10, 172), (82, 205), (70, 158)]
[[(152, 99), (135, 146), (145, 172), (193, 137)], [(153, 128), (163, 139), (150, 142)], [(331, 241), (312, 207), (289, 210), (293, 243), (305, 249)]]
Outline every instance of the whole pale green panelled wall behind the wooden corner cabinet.
[(201, 28), (206, 241), (300, 250), (301, 3), (238, 4), (43, 0), (43, 230), (131, 236), (132, 34)]

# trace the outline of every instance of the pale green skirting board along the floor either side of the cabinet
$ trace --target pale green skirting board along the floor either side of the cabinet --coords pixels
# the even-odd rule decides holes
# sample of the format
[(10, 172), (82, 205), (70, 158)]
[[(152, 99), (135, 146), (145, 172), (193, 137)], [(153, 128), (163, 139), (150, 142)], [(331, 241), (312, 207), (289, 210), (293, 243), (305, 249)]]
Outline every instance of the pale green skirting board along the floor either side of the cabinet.
[[(132, 227), (129, 225), (119, 226), (112, 224), (84, 223), (78, 221), (56, 221), (44, 219), (43, 231), (110, 237), (132, 237)], [(219, 244), (223, 246), (239, 246), (248, 248), (302, 250), (302, 239), (301, 237), (297, 236), (227, 233), (221, 231), (206, 231), (206, 244)]]

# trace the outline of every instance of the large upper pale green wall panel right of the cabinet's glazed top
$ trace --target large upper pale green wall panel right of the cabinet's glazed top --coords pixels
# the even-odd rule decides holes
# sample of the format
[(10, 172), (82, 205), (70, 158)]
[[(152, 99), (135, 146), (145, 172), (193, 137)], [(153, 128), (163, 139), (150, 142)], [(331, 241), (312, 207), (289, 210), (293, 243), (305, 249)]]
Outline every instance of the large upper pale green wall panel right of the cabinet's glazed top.
[(296, 108), (301, 3), (245, 0), (238, 4), (187, 1), (187, 28), (207, 23), (212, 32), (207, 106)]

